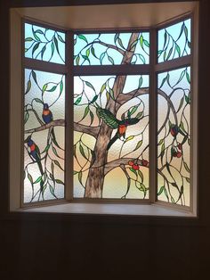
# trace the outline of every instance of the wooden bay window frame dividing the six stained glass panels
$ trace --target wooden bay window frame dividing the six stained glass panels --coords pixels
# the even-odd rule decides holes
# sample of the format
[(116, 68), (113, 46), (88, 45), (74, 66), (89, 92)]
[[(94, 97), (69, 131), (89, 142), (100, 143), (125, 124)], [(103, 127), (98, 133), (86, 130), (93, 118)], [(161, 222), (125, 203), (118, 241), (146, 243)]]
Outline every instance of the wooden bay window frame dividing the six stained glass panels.
[[(73, 121), (70, 121), (70, 119), (73, 119), (73, 111), (69, 110), (70, 107), (73, 106), (73, 96), (72, 98), (69, 97), (67, 94), (68, 89), (69, 92), (73, 92), (73, 79), (75, 76), (82, 76), (83, 74), (85, 76), (100, 76), (100, 75), (119, 75), (125, 74), (125, 75), (138, 75), (141, 72), (141, 75), (147, 74), (149, 75), (149, 119), (158, 119), (158, 95), (156, 96), (156, 89), (157, 89), (157, 76), (158, 73), (163, 71), (169, 71), (169, 70), (175, 70), (182, 67), (190, 66), (191, 68), (191, 77), (193, 73), (193, 49), (191, 49), (191, 54), (187, 56), (183, 56), (178, 59), (174, 59), (172, 61), (166, 61), (166, 62), (159, 62), (158, 63), (158, 57), (157, 57), (157, 45), (158, 45), (158, 29), (166, 28), (167, 26), (171, 26), (175, 23), (178, 23), (180, 21), (184, 21), (186, 19), (191, 19), (191, 27), (193, 26), (193, 13), (190, 12), (188, 14), (184, 14), (181, 16), (178, 16), (175, 20), (169, 20), (167, 22), (158, 24), (156, 27), (152, 28), (143, 28), (143, 29), (94, 29), (94, 30), (82, 30), (82, 29), (57, 29), (53, 27), (51, 24), (45, 24), (40, 21), (32, 21), (32, 20), (25, 20), (22, 19), (22, 77), (24, 77), (24, 69), (31, 69), (31, 70), (43, 70), (57, 74), (63, 74), (65, 75), (65, 81), (66, 81), (66, 108), (65, 108), (65, 115), (66, 115), (66, 128), (65, 128), (65, 197), (63, 199), (58, 200), (44, 200), (41, 202), (23, 202), (23, 193), (24, 193), (24, 185), (23, 185), (23, 178), (21, 177), (21, 207), (36, 207), (36, 206), (42, 206), (42, 205), (53, 205), (53, 204), (60, 204), (63, 202), (94, 202), (94, 203), (106, 203), (106, 202), (121, 202), (120, 199), (85, 199), (85, 198), (73, 198), (73, 172), (67, 171), (70, 167), (70, 170), (73, 170), (73, 153), (70, 152), (73, 149), (70, 149), (71, 146), (73, 146)], [(52, 62), (43, 62), (40, 60), (34, 60), (34, 59), (28, 59), (24, 57), (24, 24), (37, 24), (40, 27), (43, 28), (51, 28), (55, 29), (56, 31), (62, 31), (66, 34), (66, 62), (65, 64), (57, 64)], [(72, 52), (73, 54), (73, 36), (76, 33), (82, 32), (83, 34), (88, 33), (116, 33), (116, 32), (134, 32), (134, 31), (149, 31), (149, 42), (150, 45), (154, 45), (154, 47), (149, 48), (149, 64), (140, 64), (140, 65), (131, 65), (130, 69), (125, 65), (125, 67), (122, 65), (114, 65), (107, 67), (105, 65), (99, 65), (99, 66), (75, 66), (73, 63), (73, 55), (70, 55)], [(191, 28), (191, 42), (192, 40), (192, 31)], [(192, 43), (193, 45), (194, 43)], [(130, 66), (130, 65), (129, 65)], [(116, 69), (116, 70), (115, 70)], [(72, 74), (70, 74), (72, 73)], [(97, 73), (97, 74), (96, 74)], [(24, 79), (24, 78), (23, 78)], [(191, 79), (191, 86), (193, 84), (193, 81)], [(24, 86), (22, 85), (22, 90), (24, 92)], [(152, 96), (152, 97), (151, 97)], [(23, 104), (23, 102), (22, 102)], [(193, 104), (190, 106), (190, 119), (192, 116), (192, 111), (194, 110)], [(22, 110), (23, 111), (23, 110)], [(68, 112), (71, 112), (68, 114)], [(193, 135), (192, 130), (192, 121), (190, 121), (190, 131), (191, 135)], [(139, 203), (139, 204), (151, 204), (151, 203), (157, 203), (160, 205), (166, 205), (169, 208), (175, 208), (175, 209), (182, 209), (182, 210), (191, 210), (192, 209), (192, 197), (190, 197), (190, 207), (188, 206), (181, 206), (178, 204), (172, 204), (171, 202), (163, 202), (158, 200), (158, 176), (157, 176), (157, 128), (158, 124), (157, 121), (149, 121), (149, 162), (152, 162), (152, 164), (149, 166), (149, 199), (127, 199), (124, 200), (123, 203)], [(23, 126), (22, 126), (23, 129)], [(22, 133), (22, 136), (24, 137), (24, 134)], [(70, 139), (70, 141), (69, 141)], [(22, 139), (23, 143), (24, 139)], [(22, 144), (22, 150), (24, 149)], [(192, 150), (192, 147), (190, 147), (190, 150)], [(23, 151), (22, 151), (23, 154)], [(192, 158), (192, 151), (190, 151), (190, 158)], [(69, 159), (69, 160), (68, 160)], [(192, 160), (190, 160), (192, 162)], [(21, 161), (21, 167), (23, 167), (23, 160)], [(192, 166), (192, 164), (190, 164)], [(22, 168), (21, 168), (22, 169)], [(22, 174), (22, 172), (21, 172)], [(69, 175), (70, 174), (70, 175)], [(190, 180), (191, 176), (190, 176)], [(72, 186), (71, 186), (72, 185)], [(192, 195), (190, 184), (190, 195)]]

